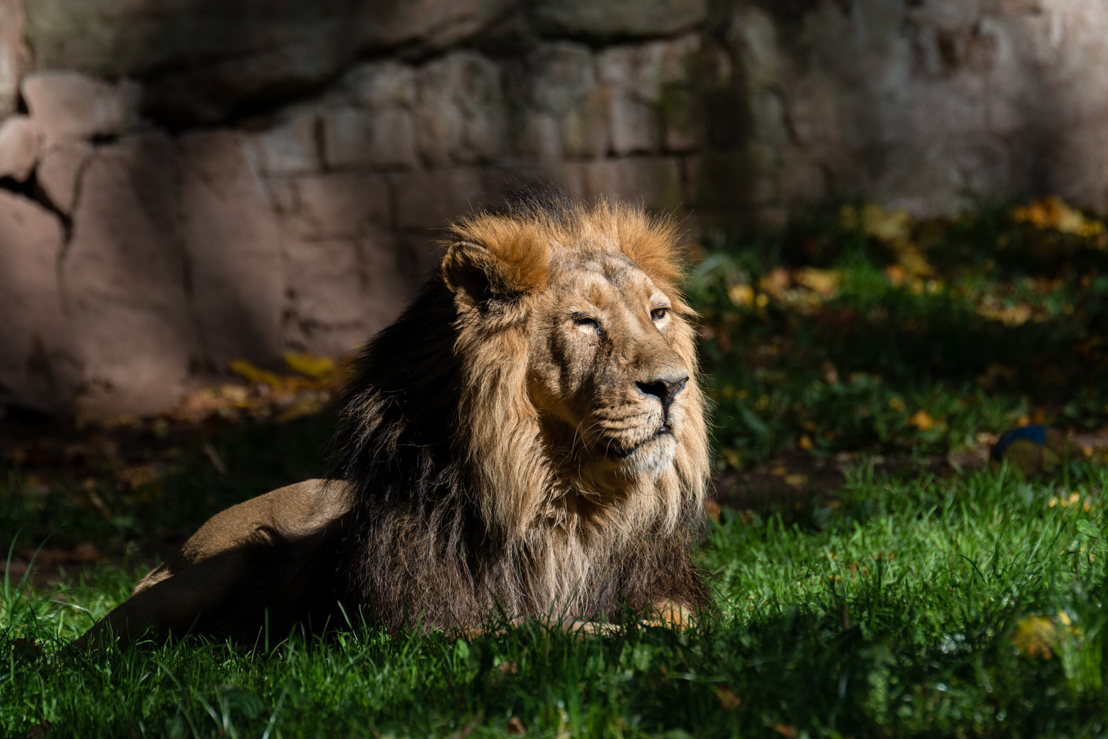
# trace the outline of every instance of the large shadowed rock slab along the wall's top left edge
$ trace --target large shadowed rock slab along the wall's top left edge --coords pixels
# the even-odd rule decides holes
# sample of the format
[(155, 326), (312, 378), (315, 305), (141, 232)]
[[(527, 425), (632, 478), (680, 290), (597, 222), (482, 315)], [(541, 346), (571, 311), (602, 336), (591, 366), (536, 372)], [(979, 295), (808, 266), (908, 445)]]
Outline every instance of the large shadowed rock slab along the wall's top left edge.
[(156, 78), (147, 110), (186, 127), (319, 88), (359, 53), (445, 49), (499, 18), (507, 0), (33, 0), (39, 69)]

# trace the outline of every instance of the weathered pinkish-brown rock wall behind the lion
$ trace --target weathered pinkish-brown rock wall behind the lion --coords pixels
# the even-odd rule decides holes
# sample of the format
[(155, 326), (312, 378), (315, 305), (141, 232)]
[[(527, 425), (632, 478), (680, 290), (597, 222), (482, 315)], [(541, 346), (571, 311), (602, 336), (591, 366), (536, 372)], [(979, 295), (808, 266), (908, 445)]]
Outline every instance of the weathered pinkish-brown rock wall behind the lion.
[(349, 350), (506, 181), (1102, 208), (1105, 69), (1104, 0), (0, 0), (0, 404)]

